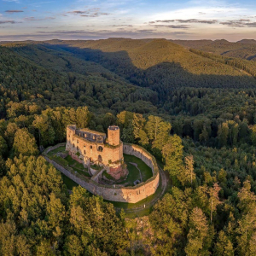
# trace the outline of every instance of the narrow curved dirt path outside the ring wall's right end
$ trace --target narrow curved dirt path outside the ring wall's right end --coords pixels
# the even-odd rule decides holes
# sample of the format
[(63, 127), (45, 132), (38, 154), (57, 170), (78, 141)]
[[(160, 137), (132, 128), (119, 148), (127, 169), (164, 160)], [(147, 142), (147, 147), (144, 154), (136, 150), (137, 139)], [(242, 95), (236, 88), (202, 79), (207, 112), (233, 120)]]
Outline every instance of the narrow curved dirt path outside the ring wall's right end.
[[(163, 169), (160, 166), (158, 166), (158, 167), (159, 167), (159, 172), (160, 172), (161, 193), (158, 194), (157, 196), (155, 196), (152, 201), (149, 201), (149, 202), (145, 203), (143, 206), (134, 207), (134, 208), (131, 208), (131, 209), (125, 209), (125, 212), (140, 212), (140, 211), (142, 211), (144, 209), (148, 209), (150, 207), (153, 207), (154, 204), (156, 203), (156, 201), (160, 200), (160, 198), (163, 195), (165, 195), (168, 179), (167, 179), (166, 173), (163, 171)], [(120, 208), (117, 208), (117, 209), (120, 209)]]

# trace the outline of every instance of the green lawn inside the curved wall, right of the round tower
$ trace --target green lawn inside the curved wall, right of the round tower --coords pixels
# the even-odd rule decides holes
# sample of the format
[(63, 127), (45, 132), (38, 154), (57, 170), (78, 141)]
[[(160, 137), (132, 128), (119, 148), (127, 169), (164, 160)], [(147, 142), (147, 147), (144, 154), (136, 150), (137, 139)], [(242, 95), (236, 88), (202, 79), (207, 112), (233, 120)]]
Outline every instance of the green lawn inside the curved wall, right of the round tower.
[[(128, 183), (128, 186), (133, 186), (133, 182), (135, 182), (137, 179), (141, 180), (140, 173), (137, 170), (137, 167), (142, 172), (143, 182), (147, 181), (148, 178), (153, 176), (151, 168), (147, 166), (143, 162), (143, 160), (140, 160), (139, 158), (131, 154), (124, 154), (124, 158), (129, 174), (125, 181), (122, 181), (119, 184)], [(137, 164), (137, 167), (131, 165), (130, 162)]]

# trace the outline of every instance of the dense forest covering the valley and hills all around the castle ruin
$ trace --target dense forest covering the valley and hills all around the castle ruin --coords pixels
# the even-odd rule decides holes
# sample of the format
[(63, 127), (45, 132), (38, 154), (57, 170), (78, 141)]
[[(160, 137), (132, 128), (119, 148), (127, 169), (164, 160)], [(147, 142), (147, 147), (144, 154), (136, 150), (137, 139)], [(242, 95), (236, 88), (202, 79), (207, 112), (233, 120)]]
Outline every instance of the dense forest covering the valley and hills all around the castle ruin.
[[(0, 46), (1, 255), (256, 254), (255, 61), (193, 44)], [(70, 193), (41, 156), (68, 124), (119, 125), (168, 173), (166, 195), (129, 218), (79, 186)]]

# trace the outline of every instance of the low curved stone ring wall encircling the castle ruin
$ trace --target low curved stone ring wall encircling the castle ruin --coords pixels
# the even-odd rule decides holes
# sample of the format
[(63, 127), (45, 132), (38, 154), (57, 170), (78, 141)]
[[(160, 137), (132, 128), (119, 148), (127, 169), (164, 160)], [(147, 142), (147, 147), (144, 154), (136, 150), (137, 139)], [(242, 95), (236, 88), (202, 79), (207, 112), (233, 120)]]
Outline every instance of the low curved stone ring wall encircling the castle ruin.
[[(44, 154), (44, 157), (49, 161), (49, 163), (55, 166), (56, 169), (61, 171), (67, 177), (71, 178), (75, 183), (78, 183), (80, 186), (84, 187), (94, 195), (101, 195), (108, 201), (137, 203), (138, 201), (142, 201), (144, 198), (147, 198), (149, 195), (153, 195), (155, 193), (155, 190), (158, 188), (160, 181), (159, 169), (154, 156), (149, 154), (148, 151), (144, 148), (141, 148), (137, 145), (124, 144), (124, 152), (125, 154), (132, 154), (137, 156), (148, 166), (150, 166), (153, 172), (153, 177), (149, 178), (145, 183), (139, 183), (134, 187), (118, 188), (115, 187), (115, 185), (102, 185), (91, 179), (84, 180), (79, 177), (79, 174), (72, 173), (65, 169), (63, 166), (57, 164), (54, 160), (49, 159), (46, 154)], [(101, 174), (102, 172), (99, 172), (96, 175)]]

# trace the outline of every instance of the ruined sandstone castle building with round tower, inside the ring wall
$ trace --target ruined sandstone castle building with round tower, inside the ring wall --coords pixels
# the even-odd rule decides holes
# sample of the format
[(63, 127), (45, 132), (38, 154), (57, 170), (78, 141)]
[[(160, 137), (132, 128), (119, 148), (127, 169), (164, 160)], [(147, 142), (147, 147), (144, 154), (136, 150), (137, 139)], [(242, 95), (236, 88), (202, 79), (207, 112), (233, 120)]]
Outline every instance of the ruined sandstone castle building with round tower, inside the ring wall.
[(102, 132), (67, 125), (66, 150), (84, 166), (103, 166), (115, 179), (125, 177), (128, 173), (118, 126), (109, 126), (107, 137)]

